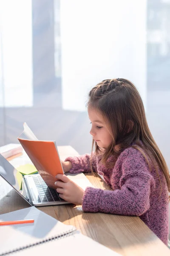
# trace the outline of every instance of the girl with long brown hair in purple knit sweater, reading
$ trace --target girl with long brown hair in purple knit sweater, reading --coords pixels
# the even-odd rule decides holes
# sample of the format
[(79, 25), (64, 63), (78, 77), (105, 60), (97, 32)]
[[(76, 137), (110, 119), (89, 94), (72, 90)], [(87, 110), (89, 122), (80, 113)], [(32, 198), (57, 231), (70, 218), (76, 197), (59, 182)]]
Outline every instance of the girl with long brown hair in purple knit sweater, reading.
[(62, 166), (71, 173), (92, 169), (113, 190), (83, 191), (57, 175), (59, 196), (85, 212), (139, 216), (167, 244), (170, 174), (136, 87), (126, 79), (104, 80), (90, 91), (87, 106), (95, 152), (68, 157)]

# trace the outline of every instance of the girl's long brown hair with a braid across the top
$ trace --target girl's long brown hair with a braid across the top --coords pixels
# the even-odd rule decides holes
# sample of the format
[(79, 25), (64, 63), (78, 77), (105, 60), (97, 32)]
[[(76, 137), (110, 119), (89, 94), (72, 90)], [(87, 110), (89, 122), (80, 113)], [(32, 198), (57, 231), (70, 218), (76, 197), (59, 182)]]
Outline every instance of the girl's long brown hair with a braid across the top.
[[(120, 154), (121, 150), (116, 151), (116, 145), (121, 149), (132, 146), (141, 151), (151, 170), (150, 161), (147, 158), (149, 157), (158, 177), (158, 167), (162, 170), (170, 192), (170, 174), (167, 164), (152, 137), (141, 96), (134, 84), (127, 79), (103, 80), (91, 89), (87, 105), (102, 113), (113, 138), (111, 145), (102, 154), (102, 163), (106, 165), (111, 155)], [(92, 149), (93, 146), (94, 140)], [(100, 154), (101, 149), (96, 143), (95, 146), (95, 153)]]

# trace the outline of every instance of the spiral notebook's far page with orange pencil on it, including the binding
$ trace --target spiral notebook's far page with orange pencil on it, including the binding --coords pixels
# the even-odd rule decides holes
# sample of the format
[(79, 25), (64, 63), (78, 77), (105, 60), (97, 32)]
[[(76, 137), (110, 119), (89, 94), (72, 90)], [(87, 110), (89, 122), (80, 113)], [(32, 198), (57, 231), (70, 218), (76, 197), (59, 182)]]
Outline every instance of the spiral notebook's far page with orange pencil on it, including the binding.
[(76, 228), (65, 225), (35, 207), (0, 215), (0, 221), (34, 219), (34, 223), (0, 226), (0, 256), (48, 241), (71, 236)]

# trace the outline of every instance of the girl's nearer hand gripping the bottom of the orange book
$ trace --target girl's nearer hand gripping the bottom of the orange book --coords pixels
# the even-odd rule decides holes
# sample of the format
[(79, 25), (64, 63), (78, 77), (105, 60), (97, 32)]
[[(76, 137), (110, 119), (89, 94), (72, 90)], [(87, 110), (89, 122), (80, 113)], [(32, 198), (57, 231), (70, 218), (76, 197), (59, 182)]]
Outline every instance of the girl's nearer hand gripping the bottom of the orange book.
[(56, 178), (59, 179), (55, 182), (59, 197), (69, 203), (82, 205), (84, 190), (65, 175), (57, 174)]

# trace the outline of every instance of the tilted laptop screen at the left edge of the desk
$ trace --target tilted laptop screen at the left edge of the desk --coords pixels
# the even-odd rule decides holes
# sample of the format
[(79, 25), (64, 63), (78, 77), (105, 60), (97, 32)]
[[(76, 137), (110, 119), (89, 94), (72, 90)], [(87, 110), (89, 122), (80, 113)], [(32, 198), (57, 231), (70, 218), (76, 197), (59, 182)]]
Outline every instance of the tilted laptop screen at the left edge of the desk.
[(26, 191), (22, 186), (22, 177), (21, 174), (11, 165), (11, 163), (6, 160), (0, 154), (0, 175), (14, 188), (17, 192), (22, 195), (26, 201), (29, 202), (29, 198), (26, 195)]

